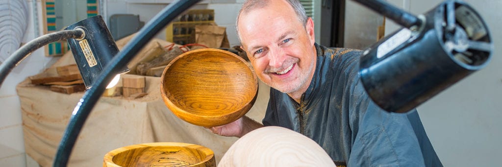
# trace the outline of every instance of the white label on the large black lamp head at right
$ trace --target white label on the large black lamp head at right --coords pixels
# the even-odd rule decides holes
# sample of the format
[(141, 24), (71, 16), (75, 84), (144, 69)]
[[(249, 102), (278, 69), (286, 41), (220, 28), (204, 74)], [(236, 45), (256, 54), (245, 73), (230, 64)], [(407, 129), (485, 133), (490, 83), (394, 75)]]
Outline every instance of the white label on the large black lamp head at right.
[(411, 31), (408, 29), (403, 29), (396, 33), (394, 36), (389, 38), (387, 41), (382, 43), (378, 48), (376, 49), (376, 58), (382, 58), (385, 55), (387, 55), (389, 52), (392, 50), (396, 49), (399, 45), (403, 44), (406, 42), (408, 39), (411, 38)]

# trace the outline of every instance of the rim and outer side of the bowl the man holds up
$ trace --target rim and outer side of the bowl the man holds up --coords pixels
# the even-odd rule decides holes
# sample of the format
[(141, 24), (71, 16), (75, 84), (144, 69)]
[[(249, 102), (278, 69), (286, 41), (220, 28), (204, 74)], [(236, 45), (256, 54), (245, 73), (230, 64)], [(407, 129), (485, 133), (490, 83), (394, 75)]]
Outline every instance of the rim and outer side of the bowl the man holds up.
[[(178, 61), (179, 59), (182, 59), (184, 58), (185, 56), (189, 56), (193, 53), (197, 53), (197, 52), (218, 52), (218, 53), (222, 53), (224, 54), (225, 56), (231, 56), (233, 58), (236, 58), (237, 60), (241, 61), (242, 63), (244, 63), (247, 67), (247, 69), (249, 70), (249, 72), (252, 74), (253, 76), (253, 81), (254, 81), (254, 85), (256, 85), (255, 89), (255, 93), (254, 93), (254, 97), (247, 101), (247, 103), (245, 103), (244, 105), (242, 105), (241, 107), (237, 108), (236, 110), (234, 110), (234, 112), (231, 112), (231, 113), (224, 113), (224, 114), (215, 114), (215, 115), (205, 115), (205, 116), (201, 116), (201, 115), (197, 115), (197, 114), (194, 114), (192, 112), (187, 112), (185, 111), (184, 109), (178, 107), (177, 105), (175, 105), (171, 99), (169, 99), (169, 97), (167, 97), (167, 91), (164, 89), (164, 81), (165, 81), (165, 77), (166, 77), (166, 72), (169, 70), (169, 68), (174, 64), (176, 63), (176, 61)], [(174, 58), (167, 66), (166, 68), (164, 69), (164, 71), (162, 72), (162, 75), (161, 75), (161, 80), (160, 80), (160, 90), (161, 90), (161, 96), (164, 100), (164, 102), (166, 103), (166, 106), (171, 110), (171, 112), (173, 112), (177, 117), (183, 119), (184, 121), (188, 122), (188, 123), (191, 123), (191, 124), (195, 124), (195, 125), (199, 125), (199, 126), (206, 126), (206, 127), (209, 127), (207, 125), (212, 125), (212, 126), (219, 126), (219, 125), (222, 125), (222, 124), (212, 124), (213, 122), (194, 122), (194, 121), (190, 121), (189, 119), (187, 119), (188, 117), (197, 117), (197, 118), (203, 118), (205, 120), (211, 120), (211, 121), (214, 121), (222, 116), (228, 116), (228, 115), (232, 115), (232, 114), (235, 114), (236, 111), (241, 111), (241, 110), (247, 110), (245, 112), (242, 112), (241, 114), (239, 114), (239, 116), (237, 117), (237, 119), (241, 116), (243, 116), (245, 113), (247, 113), (254, 105), (256, 99), (257, 99), (257, 96), (258, 96), (258, 90), (259, 90), (259, 84), (258, 84), (258, 77), (255, 73), (255, 70), (254, 68), (247, 62), (245, 61), (244, 59), (242, 59), (241, 57), (231, 53), (231, 52), (228, 52), (228, 51), (225, 51), (225, 50), (221, 50), (221, 49), (214, 49), (214, 48), (204, 48), (204, 49), (196, 49), (196, 50), (192, 50), (192, 51), (188, 51), (188, 52), (185, 52), (183, 54), (181, 54), (180, 56), (177, 56), (176, 58)], [(171, 109), (170, 107), (173, 107), (173, 109)], [(174, 111), (176, 110), (176, 111)], [(182, 115), (184, 114), (184, 115)], [(189, 115), (189, 116), (186, 116), (186, 115)], [(235, 121), (235, 120), (233, 120)], [(230, 121), (231, 122), (231, 121)], [(230, 122), (227, 122), (227, 123), (230, 123)], [(226, 123), (225, 123), (226, 124)]]

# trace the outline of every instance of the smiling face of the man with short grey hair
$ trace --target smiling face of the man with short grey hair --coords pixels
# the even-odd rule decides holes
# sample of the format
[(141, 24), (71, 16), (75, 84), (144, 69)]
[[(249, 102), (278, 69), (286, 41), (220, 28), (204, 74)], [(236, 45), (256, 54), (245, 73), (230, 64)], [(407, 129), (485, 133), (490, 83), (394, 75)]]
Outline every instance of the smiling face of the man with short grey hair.
[(241, 15), (238, 26), (243, 50), (263, 82), (288, 94), (305, 92), (316, 61), (310, 18), (304, 26), (289, 4), (271, 1)]

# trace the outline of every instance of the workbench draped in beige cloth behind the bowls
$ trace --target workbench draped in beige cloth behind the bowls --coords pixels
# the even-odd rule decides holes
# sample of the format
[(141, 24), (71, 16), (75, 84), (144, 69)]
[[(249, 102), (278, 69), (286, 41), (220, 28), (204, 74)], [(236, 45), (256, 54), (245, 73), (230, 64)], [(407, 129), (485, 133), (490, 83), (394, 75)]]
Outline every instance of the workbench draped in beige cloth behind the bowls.
[[(115, 148), (148, 142), (185, 142), (214, 151), (216, 162), (236, 137), (223, 137), (176, 117), (160, 95), (160, 77), (146, 77), (148, 95), (138, 99), (101, 97), (87, 118), (73, 147), (68, 166), (101, 166)], [(261, 122), (269, 100), (267, 85), (246, 114)], [(84, 92), (63, 94), (27, 79), (17, 86), (21, 101), (26, 153), (41, 166), (52, 166), (69, 118)]]

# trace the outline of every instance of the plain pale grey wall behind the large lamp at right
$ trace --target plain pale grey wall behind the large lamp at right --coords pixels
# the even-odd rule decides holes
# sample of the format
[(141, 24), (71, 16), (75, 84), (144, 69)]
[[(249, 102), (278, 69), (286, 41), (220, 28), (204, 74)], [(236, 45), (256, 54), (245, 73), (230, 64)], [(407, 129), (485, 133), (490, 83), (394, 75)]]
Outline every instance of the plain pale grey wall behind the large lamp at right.
[[(418, 15), (439, 0), (392, 0)], [(502, 154), (502, 1), (464, 0), (489, 27), (494, 52), (482, 70), (461, 80), (420, 107), (419, 114), (445, 166), (500, 166)], [(409, 3), (409, 6), (407, 4)], [(405, 7), (403, 7), (403, 4)], [(390, 33), (393, 29), (386, 29)], [(432, 60), (431, 60), (432, 61)]]

